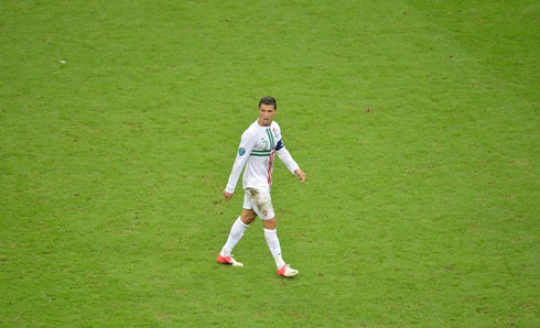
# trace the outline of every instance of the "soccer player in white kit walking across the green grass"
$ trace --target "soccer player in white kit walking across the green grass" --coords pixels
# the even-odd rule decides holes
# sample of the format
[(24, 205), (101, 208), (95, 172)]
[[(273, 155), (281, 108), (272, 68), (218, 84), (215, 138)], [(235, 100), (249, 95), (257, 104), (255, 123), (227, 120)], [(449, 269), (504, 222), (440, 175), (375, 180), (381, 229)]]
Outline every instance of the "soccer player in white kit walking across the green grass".
[(277, 112), (278, 103), (274, 98), (261, 98), (259, 101), (259, 118), (241, 135), (233, 172), (223, 195), (226, 200), (233, 197), (238, 178), (244, 166), (246, 166), (242, 178), (245, 190), (244, 206), (241, 215), (233, 223), (227, 242), (217, 255), (217, 262), (233, 266), (244, 266), (244, 264), (233, 259), (230, 253), (249, 225), (259, 217), (264, 226), (264, 239), (276, 261), (278, 274), (292, 277), (299, 272), (285, 264), (281, 258), (281, 245), (276, 230), (276, 214), (270, 198), (276, 153), (278, 153), (287, 168), (300, 177), (301, 183), (305, 182), (305, 174), (283, 145), (280, 127), (273, 121)]

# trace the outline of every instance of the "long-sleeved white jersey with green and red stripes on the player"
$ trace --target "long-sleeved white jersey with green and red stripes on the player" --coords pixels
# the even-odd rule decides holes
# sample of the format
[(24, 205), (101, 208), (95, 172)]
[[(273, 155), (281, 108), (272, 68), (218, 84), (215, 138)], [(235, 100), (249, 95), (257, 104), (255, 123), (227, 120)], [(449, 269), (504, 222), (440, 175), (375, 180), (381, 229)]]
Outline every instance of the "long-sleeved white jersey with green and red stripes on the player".
[(241, 135), (240, 146), (225, 192), (235, 193), (236, 184), (246, 163), (242, 179), (244, 189), (270, 190), (276, 153), (293, 174), (300, 168), (281, 141), (279, 124), (272, 122), (270, 127), (261, 127), (256, 120)]

